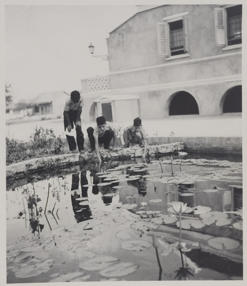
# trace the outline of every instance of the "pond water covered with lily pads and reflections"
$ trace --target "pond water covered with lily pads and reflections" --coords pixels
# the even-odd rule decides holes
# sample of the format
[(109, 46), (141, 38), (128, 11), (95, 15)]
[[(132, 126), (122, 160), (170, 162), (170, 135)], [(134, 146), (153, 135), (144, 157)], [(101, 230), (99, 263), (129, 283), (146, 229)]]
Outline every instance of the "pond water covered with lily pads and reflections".
[(243, 279), (242, 163), (160, 159), (8, 188), (7, 283)]

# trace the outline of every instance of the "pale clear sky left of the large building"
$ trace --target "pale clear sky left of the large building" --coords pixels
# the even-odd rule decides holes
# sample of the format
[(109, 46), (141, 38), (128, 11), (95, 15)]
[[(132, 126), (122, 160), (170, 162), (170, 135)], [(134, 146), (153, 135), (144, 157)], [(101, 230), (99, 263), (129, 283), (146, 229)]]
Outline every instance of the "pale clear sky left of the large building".
[(5, 5), (5, 81), (13, 102), (43, 92), (81, 90), (80, 80), (109, 73), (109, 32), (135, 5)]

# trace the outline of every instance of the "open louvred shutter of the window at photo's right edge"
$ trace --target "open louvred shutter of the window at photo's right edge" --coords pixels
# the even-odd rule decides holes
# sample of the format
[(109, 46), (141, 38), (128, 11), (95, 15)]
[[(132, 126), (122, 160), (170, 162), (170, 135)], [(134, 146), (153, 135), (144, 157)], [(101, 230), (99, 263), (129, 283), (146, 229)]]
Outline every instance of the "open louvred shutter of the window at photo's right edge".
[(224, 8), (214, 8), (216, 45), (225, 45)]

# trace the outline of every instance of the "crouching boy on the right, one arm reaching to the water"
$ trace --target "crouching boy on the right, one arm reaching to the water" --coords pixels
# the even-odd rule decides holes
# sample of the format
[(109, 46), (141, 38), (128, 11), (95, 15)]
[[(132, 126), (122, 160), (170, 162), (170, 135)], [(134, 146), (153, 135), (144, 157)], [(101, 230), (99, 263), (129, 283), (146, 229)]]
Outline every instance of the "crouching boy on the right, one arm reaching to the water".
[(142, 158), (146, 157), (147, 135), (144, 128), (142, 127), (142, 120), (139, 117), (134, 119), (133, 125), (130, 125), (123, 130), (123, 138), (125, 142), (123, 148), (128, 148), (129, 143), (139, 144), (140, 147), (143, 147), (144, 144)]

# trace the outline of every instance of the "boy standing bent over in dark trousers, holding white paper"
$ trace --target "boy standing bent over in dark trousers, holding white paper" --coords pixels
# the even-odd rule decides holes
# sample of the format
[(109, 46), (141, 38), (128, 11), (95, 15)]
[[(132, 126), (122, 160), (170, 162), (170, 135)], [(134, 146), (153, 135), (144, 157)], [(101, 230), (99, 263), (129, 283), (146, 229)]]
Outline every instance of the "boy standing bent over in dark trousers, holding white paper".
[(66, 138), (69, 144), (69, 150), (72, 153), (77, 153), (76, 151), (76, 142), (78, 150), (80, 153), (84, 153), (84, 136), (81, 130), (81, 121), (80, 115), (83, 106), (83, 99), (80, 97), (80, 93), (77, 90), (74, 90), (70, 94), (70, 98), (66, 100), (65, 108), (63, 112), (63, 121), (64, 121), (64, 130), (68, 127), (68, 132), (71, 132), (71, 129), (74, 127), (73, 122), (76, 128), (76, 141), (74, 136), (69, 136), (66, 134)]

